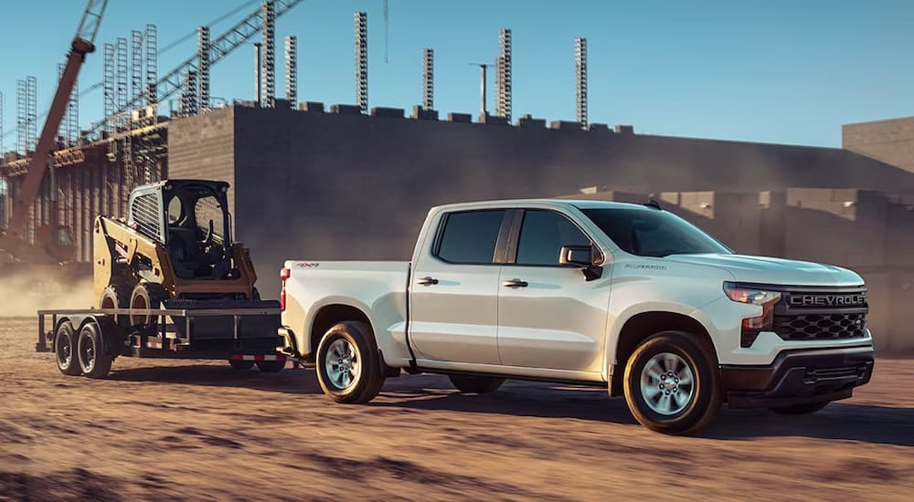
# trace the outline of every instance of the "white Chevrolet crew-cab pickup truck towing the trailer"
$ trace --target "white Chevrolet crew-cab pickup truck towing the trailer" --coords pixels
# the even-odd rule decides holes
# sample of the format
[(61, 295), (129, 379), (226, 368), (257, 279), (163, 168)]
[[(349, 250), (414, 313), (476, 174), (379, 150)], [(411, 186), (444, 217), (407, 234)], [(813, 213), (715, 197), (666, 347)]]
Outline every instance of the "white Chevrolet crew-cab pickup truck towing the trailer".
[(287, 261), (281, 303), (285, 351), (339, 403), (401, 370), (571, 382), (685, 434), (721, 403), (813, 413), (873, 371), (856, 273), (736, 255), (654, 201), (434, 207), (412, 261)]

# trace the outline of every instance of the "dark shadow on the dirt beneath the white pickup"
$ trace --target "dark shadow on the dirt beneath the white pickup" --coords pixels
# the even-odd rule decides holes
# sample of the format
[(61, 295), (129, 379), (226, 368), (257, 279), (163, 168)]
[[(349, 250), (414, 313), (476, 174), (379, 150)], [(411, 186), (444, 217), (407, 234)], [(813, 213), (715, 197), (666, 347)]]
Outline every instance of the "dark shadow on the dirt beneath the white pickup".
[[(454, 391), (444, 377), (431, 378), (440, 380), (427, 377), (417, 387), (409, 385), (407, 378), (402, 384), (386, 386), (383, 395), (388, 399), (376, 405), (636, 424), (625, 401), (608, 399), (604, 389), (506, 382), (497, 392), (474, 395)], [(790, 416), (767, 410), (730, 410), (725, 405), (717, 421), (698, 435), (719, 440), (794, 436), (914, 446), (914, 408), (838, 402), (819, 413)]]

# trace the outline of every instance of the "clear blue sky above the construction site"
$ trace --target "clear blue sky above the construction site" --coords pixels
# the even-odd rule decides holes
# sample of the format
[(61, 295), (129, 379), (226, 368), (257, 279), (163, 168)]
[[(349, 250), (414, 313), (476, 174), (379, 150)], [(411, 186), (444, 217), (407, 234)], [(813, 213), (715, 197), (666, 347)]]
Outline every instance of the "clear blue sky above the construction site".
[[(145, 23), (159, 47), (245, 0), (111, 0), (97, 40), (129, 37)], [(498, 29), (514, 36), (514, 115), (574, 120), (574, 37), (587, 37), (590, 121), (635, 131), (727, 140), (840, 146), (841, 124), (914, 115), (914, 2), (903, 0), (305, 0), (277, 22), (299, 40), (299, 99), (354, 103), (353, 13), (368, 13), (369, 106), (420, 103), (422, 47), (435, 49), (435, 105), (478, 114), (478, 69), (493, 60)], [(0, 1), (0, 92), (5, 131), (16, 121), (16, 79), (38, 80), (38, 111), (50, 102), (82, 0)], [(217, 37), (243, 13), (212, 26)], [(165, 51), (163, 75), (196, 50), (196, 38)], [(491, 78), (490, 74), (490, 78)], [(213, 96), (251, 99), (253, 49), (212, 70)], [(80, 75), (101, 81), (101, 48)], [(492, 82), (490, 81), (490, 86)], [(492, 108), (490, 96), (490, 108)], [(101, 89), (80, 100), (80, 122), (101, 117)], [(40, 129), (40, 126), (39, 126)], [(10, 148), (15, 135), (5, 133)]]

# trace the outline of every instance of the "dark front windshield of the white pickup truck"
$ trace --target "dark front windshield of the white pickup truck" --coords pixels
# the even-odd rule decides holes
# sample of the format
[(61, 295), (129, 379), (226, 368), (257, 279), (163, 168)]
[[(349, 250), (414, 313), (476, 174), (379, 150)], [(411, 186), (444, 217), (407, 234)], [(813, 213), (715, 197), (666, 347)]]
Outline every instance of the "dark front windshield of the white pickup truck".
[(581, 209), (622, 251), (669, 256), (732, 251), (675, 214), (643, 209)]

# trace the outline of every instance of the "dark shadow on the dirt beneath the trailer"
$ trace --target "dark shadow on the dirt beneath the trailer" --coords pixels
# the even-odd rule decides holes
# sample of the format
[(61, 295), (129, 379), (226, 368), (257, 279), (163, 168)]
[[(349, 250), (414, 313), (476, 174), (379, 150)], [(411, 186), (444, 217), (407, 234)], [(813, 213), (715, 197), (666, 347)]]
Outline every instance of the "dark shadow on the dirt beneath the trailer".
[(236, 371), (216, 364), (186, 366), (150, 366), (112, 369), (108, 380), (118, 382), (155, 382), (208, 387), (234, 387), (287, 394), (320, 394), (321, 387), (314, 371), (292, 370), (291, 366), (278, 373), (266, 373), (256, 368)]

